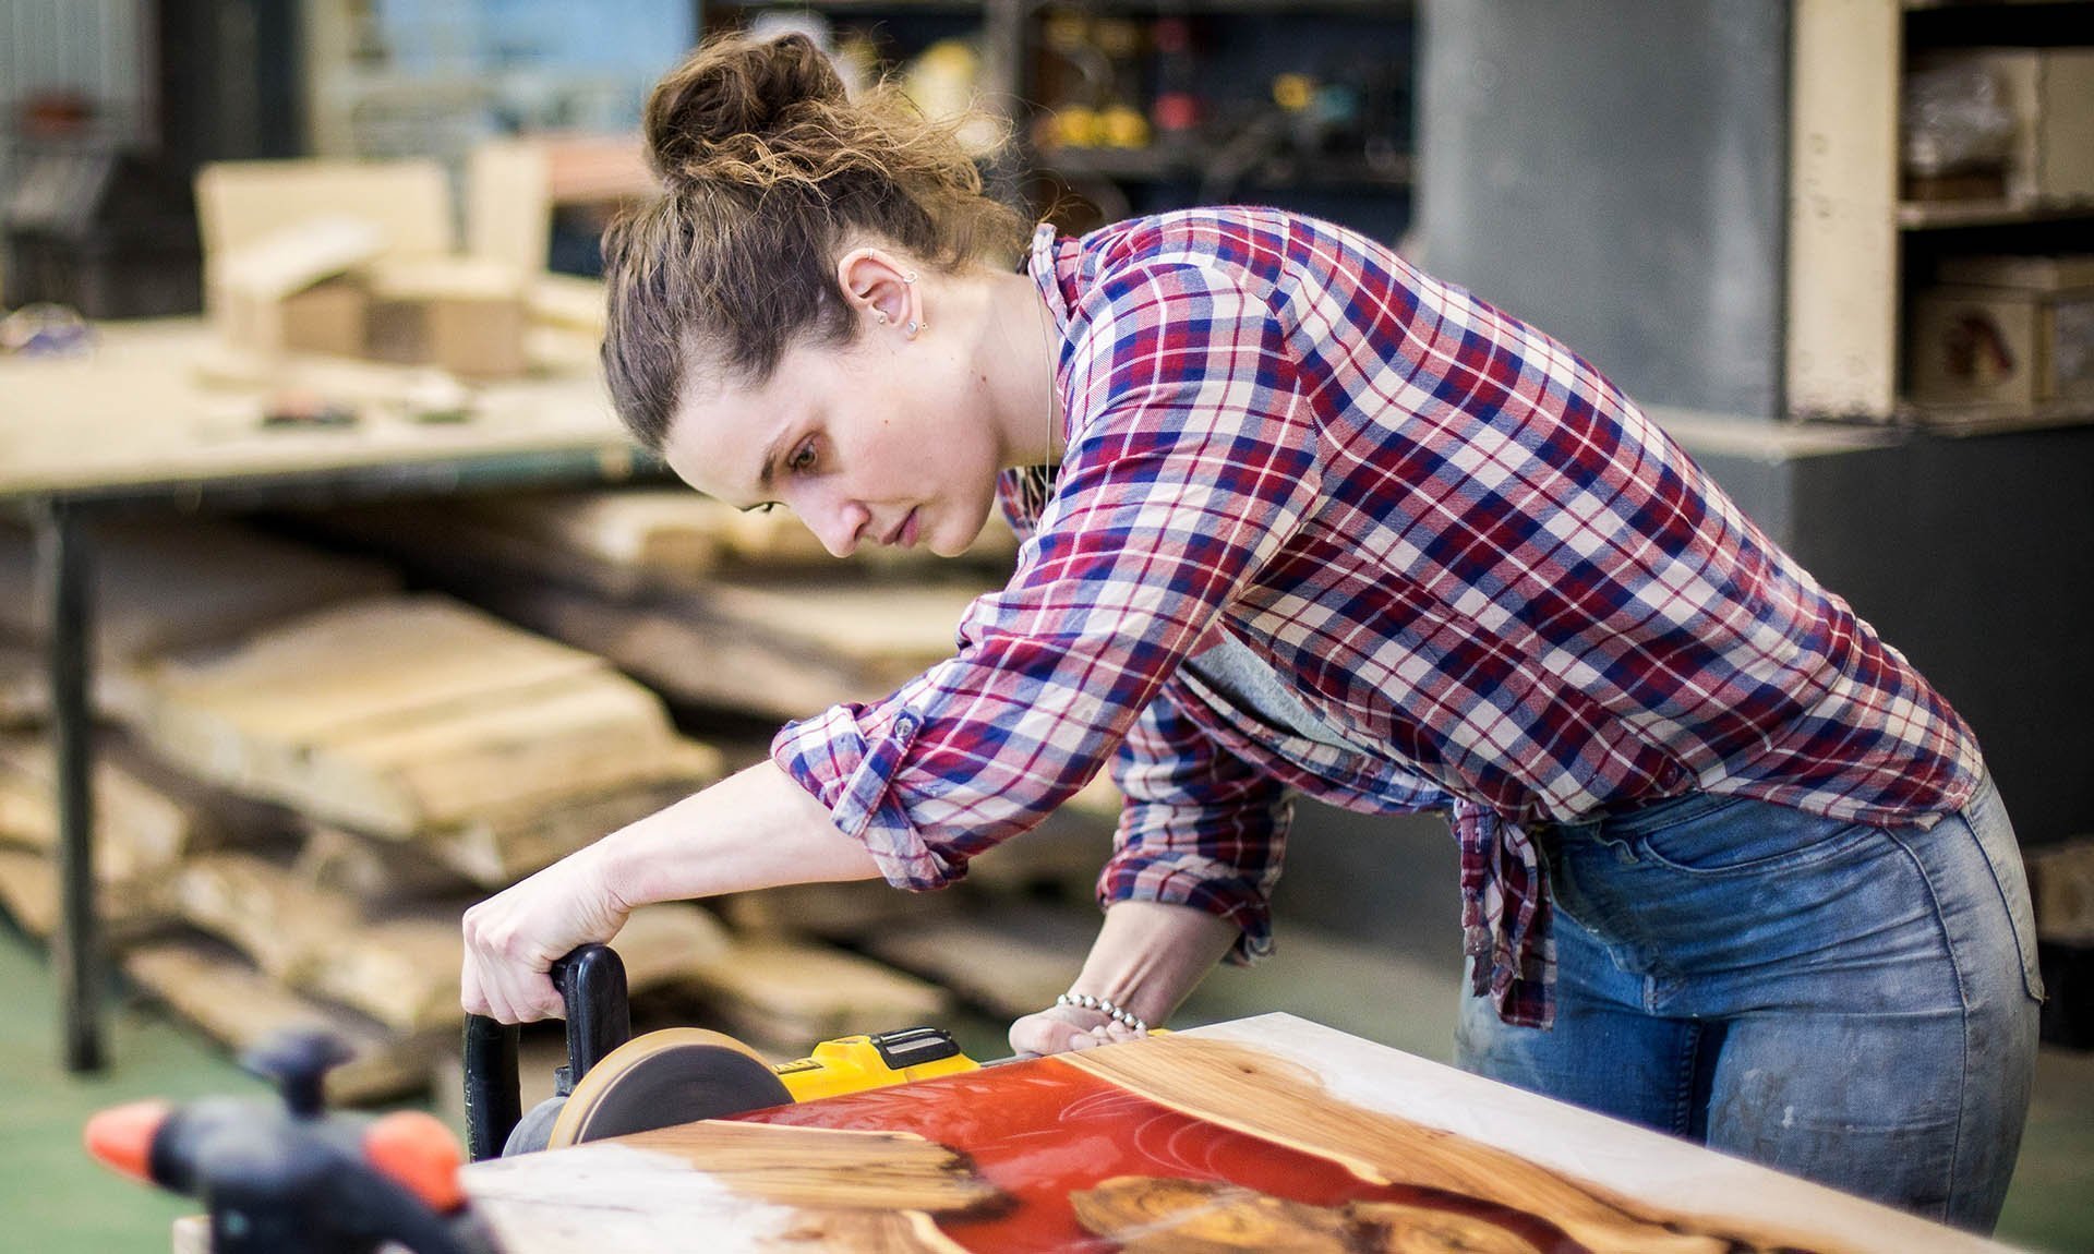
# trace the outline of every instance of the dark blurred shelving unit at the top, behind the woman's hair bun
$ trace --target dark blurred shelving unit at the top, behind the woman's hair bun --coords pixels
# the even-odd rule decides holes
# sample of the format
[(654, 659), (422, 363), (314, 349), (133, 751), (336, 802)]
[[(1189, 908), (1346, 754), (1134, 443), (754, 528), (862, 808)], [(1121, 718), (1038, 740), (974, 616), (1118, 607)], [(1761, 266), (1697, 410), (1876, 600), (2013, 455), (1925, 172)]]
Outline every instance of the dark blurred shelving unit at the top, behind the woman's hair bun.
[[(1242, 117), (1258, 109), (1271, 113), (1271, 105), (1258, 105), (1248, 96), (1263, 90), (1279, 71), (1305, 69), (1290, 63), (1284, 48), (1273, 48), (1273, 40), (1240, 38), (1242, 27), (1256, 23), (1290, 25), (1305, 21), (1359, 23), (1367, 31), (1367, 44), (1382, 40), (1409, 50), (1409, 23), (1416, 13), (1411, 0), (737, 0), (706, 4), (708, 29), (720, 25), (741, 25), (760, 13), (815, 13), (836, 23), (871, 23), (884, 42), (896, 52), (911, 54), (932, 38), (955, 33), (957, 19), (978, 19), (978, 48), (982, 54), (980, 100), (999, 109), (1011, 124), (1013, 153), (1003, 163), (1005, 178), (1020, 178), (1022, 186), (1007, 184), (1005, 191), (1030, 201), (1039, 211), (1049, 214), (1066, 228), (1085, 228), (1122, 214), (1156, 211), (1196, 203), (1198, 199), (1271, 199), (1290, 201), (1294, 197), (1359, 199), (1369, 197), (1376, 214), (1384, 222), (1361, 224), (1367, 230), (1395, 234), (1386, 224), (1388, 209), (1399, 209), (1397, 218), (1409, 216), (1411, 153), (1407, 119), (1399, 130), (1401, 142), (1378, 140), (1361, 144), (1359, 151), (1305, 151), (1288, 142), (1269, 144), (1265, 151), (1231, 151), (1231, 140), (1240, 138), (1246, 126)], [(1189, 136), (1168, 132), (1141, 147), (1041, 147), (1034, 142), (1034, 124), (1051, 113), (1053, 100), (1043, 98), (1039, 65), (1047, 54), (1045, 23), (1066, 15), (1089, 15), (1108, 19), (1191, 19), (1215, 33), (1215, 44), (1227, 44), (1227, 57), (1217, 57), (1225, 69), (1202, 73), (1202, 86), (1227, 105), (1215, 113), (1233, 113), (1219, 126), (1204, 128)], [(1258, 33), (1269, 33), (1258, 31)], [(915, 40), (915, 46), (911, 42)], [(1252, 44), (1256, 44), (1252, 48)], [(1344, 44), (1344, 40), (1338, 40)], [(1359, 40), (1353, 40), (1359, 44)], [(1212, 90), (1212, 84), (1229, 84), (1229, 92)], [(1246, 92), (1246, 84), (1256, 84)], [(1405, 92), (1409, 75), (1403, 75)], [(1154, 84), (1143, 84), (1143, 98), (1129, 100), (1145, 111)], [(1229, 98), (1229, 96), (1235, 98)], [(1405, 109), (1407, 111), (1407, 109)], [(1223, 159), (1233, 157), (1238, 167), (1225, 167)], [(1081, 201), (1072, 211), (1072, 193)], [(1101, 207), (1099, 207), (1101, 205)], [(1317, 205), (1309, 205), (1311, 211)], [(1085, 209), (1091, 209), (1089, 218)], [(1336, 216), (1342, 216), (1336, 214)]]

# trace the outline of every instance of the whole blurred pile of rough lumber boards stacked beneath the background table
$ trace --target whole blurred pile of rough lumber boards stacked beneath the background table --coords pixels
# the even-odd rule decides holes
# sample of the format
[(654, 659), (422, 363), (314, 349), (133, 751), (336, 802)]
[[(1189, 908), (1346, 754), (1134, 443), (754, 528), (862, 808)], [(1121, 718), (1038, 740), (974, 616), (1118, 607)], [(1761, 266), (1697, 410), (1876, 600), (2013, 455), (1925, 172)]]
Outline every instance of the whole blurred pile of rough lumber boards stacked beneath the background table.
[[(951, 655), (1011, 557), (1005, 536), (959, 563), (840, 563), (789, 515), (683, 490), (306, 521), (389, 563), (201, 523), (101, 536), (98, 693), (121, 726), (96, 764), (96, 873), (136, 986), (235, 1049), (335, 1030), (356, 1051), (337, 1101), (454, 1082), (471, 902), (760, 760), (777, 722)], [(0, 542), (0, 580), (25, 586), (27, 538), (0, 540), (19, 540)], [(396, 567), (459, 599), (404, 595)], [(48, 934), (27, 603), (0, 611), (0, 906)], [(955, 1005), (1037, 1009), (1095, 930), (1114, 808), (1101, 781), (955, 892), (649, 906), (614, 942), (637, 1022), (792, 1057)]]

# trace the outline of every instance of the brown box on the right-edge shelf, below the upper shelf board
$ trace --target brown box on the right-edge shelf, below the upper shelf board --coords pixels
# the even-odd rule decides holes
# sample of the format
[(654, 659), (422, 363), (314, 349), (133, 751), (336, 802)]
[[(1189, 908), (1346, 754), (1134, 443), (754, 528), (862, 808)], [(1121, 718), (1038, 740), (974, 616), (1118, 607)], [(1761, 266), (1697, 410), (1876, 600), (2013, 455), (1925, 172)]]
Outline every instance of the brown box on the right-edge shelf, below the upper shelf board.
[(1906, 360), (1916, 404), (2094, 400), (2094, 289), (1929, 289)]

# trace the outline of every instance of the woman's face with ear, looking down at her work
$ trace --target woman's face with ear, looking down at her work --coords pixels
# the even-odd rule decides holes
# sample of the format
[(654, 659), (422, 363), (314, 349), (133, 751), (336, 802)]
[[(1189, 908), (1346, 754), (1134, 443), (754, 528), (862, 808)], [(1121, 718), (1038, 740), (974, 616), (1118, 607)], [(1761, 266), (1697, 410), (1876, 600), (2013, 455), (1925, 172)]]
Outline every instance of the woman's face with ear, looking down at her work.
[(861, 544), (953, 557), (988, 521), (1005, 463), (986, 373), (961, 339), (886, 322), (844, 348), (798, 343), (762, 387), (687, 389), (664, 456), (708, 496), (792, 509), (838, 557)]

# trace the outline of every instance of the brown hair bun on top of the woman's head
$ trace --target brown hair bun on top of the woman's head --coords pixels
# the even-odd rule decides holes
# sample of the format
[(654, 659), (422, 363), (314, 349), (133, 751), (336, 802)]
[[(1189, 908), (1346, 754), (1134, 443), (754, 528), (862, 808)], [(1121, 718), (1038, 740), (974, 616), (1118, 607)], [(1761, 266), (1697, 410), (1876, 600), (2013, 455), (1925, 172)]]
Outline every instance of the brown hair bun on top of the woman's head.
[(701, 178), (716, 144), (762, 138), (804, 103), (842, 105), (844, 80), (802, 33), (727, 38), (699, 48), (647, 96), (647, 155), (666, 180)]

